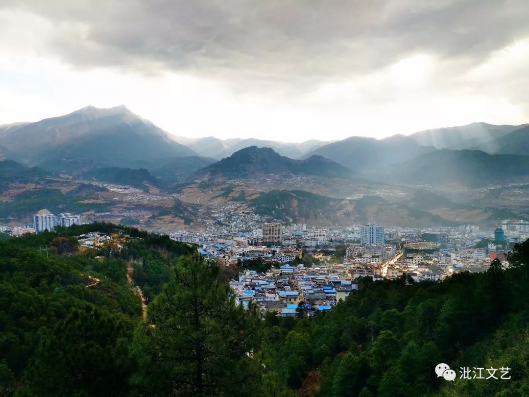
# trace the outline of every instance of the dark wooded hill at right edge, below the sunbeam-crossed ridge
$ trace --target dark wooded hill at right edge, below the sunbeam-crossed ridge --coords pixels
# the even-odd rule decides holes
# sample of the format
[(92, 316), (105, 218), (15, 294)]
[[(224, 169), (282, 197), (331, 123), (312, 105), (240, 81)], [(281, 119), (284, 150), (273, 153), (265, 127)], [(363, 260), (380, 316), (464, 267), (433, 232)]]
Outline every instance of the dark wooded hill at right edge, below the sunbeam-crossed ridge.
[(390, 183), (432, 186), (478, 187), (522, 182), (529, 179), (529, 156), (441, 149), (396, 164), (378, 177)]

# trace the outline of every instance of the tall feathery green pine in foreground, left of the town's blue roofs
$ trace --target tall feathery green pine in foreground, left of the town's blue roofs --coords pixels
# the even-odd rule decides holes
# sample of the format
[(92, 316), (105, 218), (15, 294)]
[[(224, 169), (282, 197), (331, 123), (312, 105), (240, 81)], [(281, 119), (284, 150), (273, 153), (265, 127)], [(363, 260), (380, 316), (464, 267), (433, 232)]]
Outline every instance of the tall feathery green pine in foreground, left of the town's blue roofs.
[(140, 394), (232, 395), (255, 390), (261, 366), (253, 359), (255, 308), (235, 303), (220, 268), (194, 255), (180, 258), (149, 308), (134, 347)]

